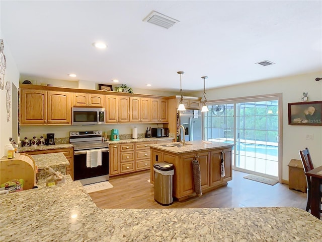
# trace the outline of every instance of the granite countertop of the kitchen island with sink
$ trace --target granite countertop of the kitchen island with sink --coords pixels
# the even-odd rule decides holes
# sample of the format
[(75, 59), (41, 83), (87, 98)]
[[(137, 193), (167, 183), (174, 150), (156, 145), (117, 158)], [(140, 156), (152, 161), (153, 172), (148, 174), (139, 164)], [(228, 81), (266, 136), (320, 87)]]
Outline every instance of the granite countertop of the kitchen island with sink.
[[(176, 142), (175, 144), (179, 145), (180, 142)], [(165, 146), (163, 146), (165, 145)], [(223, 142), (209, 142), (209, 141), (188, 141), (185, 146), (170, 146), (172, 144), (154, 144), (150, 145), (150, 148), (168, 151), (174, 154), (181, 153), (189, 153), (196, 151), (204, 151), (204, 150), (213, 150), (213, 149), (226, 149), (231, 148), (234, 144), (227, 144)]]

